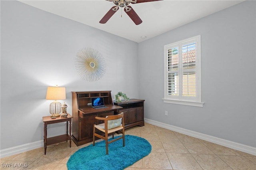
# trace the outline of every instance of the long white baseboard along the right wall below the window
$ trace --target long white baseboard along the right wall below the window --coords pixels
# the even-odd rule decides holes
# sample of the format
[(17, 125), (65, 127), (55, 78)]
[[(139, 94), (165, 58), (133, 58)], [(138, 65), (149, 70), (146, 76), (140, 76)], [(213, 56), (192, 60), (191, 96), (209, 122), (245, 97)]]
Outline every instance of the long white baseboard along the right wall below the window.
[(153, 121), (153, 120), (146, 119), (146, 118), (144, 118), (144, 121), (145, 121), (145, 123), (149, 123), (151, 125), (156, 125), (158, 127), (173, 130), (175, 132), (179, 132), (179, 133), (182, 133), (182, 134), (186, 134), (188, 136), (192, 136), (192, 137), (195, 137), (195, 138), (206, 140), (208, 142), (212, 142), (212, 143), (215, 143), (215, 144), (220, 144), (220, 145), (226, 146), (228, 148), (232, 148), (232, 149), (235, 149), (235, 150), (246, 152), (248, 154), (256, 155), (256, 148), (254, 148), (252, 146), (247, 146), (247, 145), (244, 145), (244, 144), (232, 142), (230, 140), (217, 138), (217, 137), (210, 136), (210, 135), (207, 135), (207, 134), (203, 134), (203, 133), (195, 132), (195, 131), (192, 131), (192, 130), (188, 130), (188, 129), (168, 125), (168, 124), (165, 124), (165, 123)]

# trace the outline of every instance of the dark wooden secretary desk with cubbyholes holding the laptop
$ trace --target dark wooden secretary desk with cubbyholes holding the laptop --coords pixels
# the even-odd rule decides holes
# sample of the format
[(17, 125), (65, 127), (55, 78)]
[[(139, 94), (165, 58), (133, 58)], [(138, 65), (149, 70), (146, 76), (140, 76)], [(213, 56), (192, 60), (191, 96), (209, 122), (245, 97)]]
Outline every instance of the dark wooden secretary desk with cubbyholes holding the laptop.
[[(72, 140), (77, 146), (92, 142), (93, 125), (104, 123), (95, 117), (116, 115), (122, 107), (113, 105), (111, 91), (72, 91)], [(91, 106), (92, 97), (103, 97), (108, 108), (94, 109)], [(98, 131), (98, 133), (100, 133)]]

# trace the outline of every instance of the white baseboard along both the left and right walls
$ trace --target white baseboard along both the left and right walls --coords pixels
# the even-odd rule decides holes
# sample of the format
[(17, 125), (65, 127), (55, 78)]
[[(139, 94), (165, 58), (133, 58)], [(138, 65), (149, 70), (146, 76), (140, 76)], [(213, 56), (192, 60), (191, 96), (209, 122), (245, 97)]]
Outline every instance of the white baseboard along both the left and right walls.
[[(195, 137), (195, 138), (206, 140), (206, 141), (209, 141), (209, 142), (212, 142), (212, 143), (215, 143), (215, 144), (220, 144), (220, 145), (226, 146), (228, 148), (232, 148), (232, 149), (235, 149), (235, 150), (246, 152), (248, 154), (256, 155), (256, 148), (254, 148), (252, 146), (247, 146), (247, 145), (244, 145), (244, 144), (232, 142), (232, 141), (225, 140), (225, 139), (222, 139), (222, 138), (217, 138), (217, 137), (210, 136), (210, 135), (207, 135), (207, 134), (202, 134), (202, 133), (199, 133), (199, 132), (195, 132), (195, 131), (192, 131), (192, 130), (188, 130), (188, 129), (168, 125), (168, 124), (165, 124), (165, 123), (153, 121), (153, 120), (146, 119), (146, 118), (144, 118), (144, 121), (146, 123), (151, 124), (151, 125), (156, 125), (158, 127), (173, 130), (175, 132), (186, 134), (188, 136), (192, 136), (192, 137)], [(44, 140), (40, 140), (40, 141), (37, 141), (37, 142), (32, 142), (32, 143), (23, 144), (23, 145), (20, 145), (20, 146), (15, 146), (15, 147), (12, 147), (12, 148), (3, 149), (3, 150), (0, 150), (0, 158), (4, 158), (6, 156), (12, 156), (14, 154), (19, 154), (19, 153), (26, 152), (26, 151), (29, 151), (29, 150), (33, 150), (33, 149), (36, 149), (36, 148), (40, 148), (40, 147), (43, 147), (43, 146), (44, 146)]]

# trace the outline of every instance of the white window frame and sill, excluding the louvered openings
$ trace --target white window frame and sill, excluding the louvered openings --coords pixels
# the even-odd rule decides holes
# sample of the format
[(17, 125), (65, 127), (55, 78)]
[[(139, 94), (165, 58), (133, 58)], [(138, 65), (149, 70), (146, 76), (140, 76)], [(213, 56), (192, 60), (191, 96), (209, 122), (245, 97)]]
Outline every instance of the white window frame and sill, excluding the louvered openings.
[[(182, 66), (182, 46), (188, 45), (190, 43), (196, 43), (196, 67), (195, 68), (186, 68), (184, 69)], [(178, 47), (178, 70), (168, 71), (168, 49), (173, 49)], [(196, 75), (196, 96), (183, 96), (182, 95), (182, 79), (183, 73), (185, 70), (195, 71)], [(178, 73), (179, 81), (178, 81), (178, 95), (168, 95), (168, 73)], [(181, 77), (181, 76), (182, 77)], [(185, 40), (181, 40), (178, 42), (170, 43), (164, 45), (164, 99), (162, 99), (164, 103), (172, 103), (172, 104), (180, 104), (180, 105), (189, 105), (196, 107), (203, 107), (201, 102), (201, 35), (194, 36), (192, 38), (187, 38)]]

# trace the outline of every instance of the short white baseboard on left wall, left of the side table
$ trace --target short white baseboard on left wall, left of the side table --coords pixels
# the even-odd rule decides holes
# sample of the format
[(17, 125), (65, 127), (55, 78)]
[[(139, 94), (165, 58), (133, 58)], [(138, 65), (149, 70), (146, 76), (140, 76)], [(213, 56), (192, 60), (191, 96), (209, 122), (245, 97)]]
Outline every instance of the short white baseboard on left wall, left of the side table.
[(32, 142), (32, 143), (28, 143), (28, 144), (22, 144), (20, 146), (15, 146), (12, 148), (7, 148), (7, 149), (3, 149), (0, 150), (0, 158), (4, 158), (6, 156), (12, 156), (14, 154), (19, 154), (22, 152), (26, 152), (29, 150), (33, 150), (36, 148), (41, 148), (44, 146), (44, 140), (40, 140), (37, 142)]

